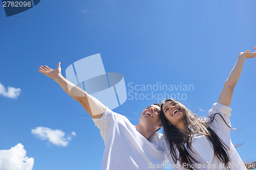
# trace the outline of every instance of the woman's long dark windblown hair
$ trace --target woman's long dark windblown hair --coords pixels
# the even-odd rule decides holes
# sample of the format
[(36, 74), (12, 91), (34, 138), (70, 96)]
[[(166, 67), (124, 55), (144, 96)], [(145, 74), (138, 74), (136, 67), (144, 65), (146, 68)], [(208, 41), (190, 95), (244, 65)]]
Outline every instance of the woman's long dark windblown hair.
[[(163, 104), (167, 101), (172, 102), (173, 105), (177, 105), (181, 108), (181, 112), (183, 113), (183, 121), (185, 125), (185, 135), (180, 132), (179, 129), (177, 129), (173, 125), (169, 125), (168, 120), (165, 118), (162, 107)], [(193, 137), (196, 133), (199, 135), (205, 135), (206, 138), (209, 140), (209, 142), (212, 144), (212, 148), (214, 149), (214, 154), (217, 156), (217, 158), (224, 163), (226, 167), (228, 167), (228, 162), (231, 162), (229, 154), (228, 154), (228, 146), (219, 138), (219, 136), (208, 126), (209, 123), (211, 123), (214, 120), (214, 117), (209, 117), (209, 121), (207, 123), (201, 122), (197, 117), (194, 116), (194, 114), (187, 109), (183, 104), (168, 99), (164, 103), (161, 104), (161, 111), (160, 111), (160, 118), (163, 125), (163, 133), (164, 138), (168, 143), (170, 156), (172, 156), (175, 163), (179, 160), (181, 164), (185, 165), (185, 168), (193, 170), (192, 165), (194, 162), (199, 163), (195, 158), (191, 156), (191, 154), (188, 152), (191, 151), (191, 137)], [(222, 115), (219, 114), (221, 117)], [(222, 117), (223, 118), (223, 117)], [(223, 118), (224, 120), (224, 118)], [(225, 120), (224, 120), (225, 122)], [(226, 122), (225, 122), (226, 123)], [(227, 123), (226, 125), (231, 128)], [(231, 128), (233, 129), (233, 128)], [(185, 143), (187, 145), (187, 149), (185, 148)], [(179, 151), (179, 157), (178, 153), (176, 153), (176, 150)], [(193, 152), (193, 151), (191, 151)]]

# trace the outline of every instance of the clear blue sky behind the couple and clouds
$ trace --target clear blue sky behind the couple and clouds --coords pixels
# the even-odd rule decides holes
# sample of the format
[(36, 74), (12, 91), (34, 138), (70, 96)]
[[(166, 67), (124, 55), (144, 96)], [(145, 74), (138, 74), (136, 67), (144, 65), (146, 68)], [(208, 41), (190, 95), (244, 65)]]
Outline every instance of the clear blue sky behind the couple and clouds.
[[(239, 53), (254, 52), (255, 5), (255, 1), (42, 0), (10, 17), (0, 7), (0, 82), (21, 90), (17, 99), (0, 95), (0, 150), (21, 143), (26, 156), (34, 158), (36, 170), (100, 169), (104, 142), (99, 130), (79, 103), (38, 72), (40, 65), (55, 68), (61, 62), (65, 76), (70, 64), (97, 53), (106, 72), (124, 76), (127, 90), (129, 83), (193, 85), (194, 90), (170, 93), (184, 93), (193, 111), (208, 111)], [(232, 127), (243, 128), (230, 136), (234, 144), (245, 142), (237, 149), (245, 161), (256, 159), (255, 64), (256, 59), (245, 61), (230, 105)], [(142, 110), (155, 102), (127, 100), (114, 111), (136, 125)], [(61, 130), (71, 140), (66, 147), (40, 140), (31, 133), (36, 127)]]

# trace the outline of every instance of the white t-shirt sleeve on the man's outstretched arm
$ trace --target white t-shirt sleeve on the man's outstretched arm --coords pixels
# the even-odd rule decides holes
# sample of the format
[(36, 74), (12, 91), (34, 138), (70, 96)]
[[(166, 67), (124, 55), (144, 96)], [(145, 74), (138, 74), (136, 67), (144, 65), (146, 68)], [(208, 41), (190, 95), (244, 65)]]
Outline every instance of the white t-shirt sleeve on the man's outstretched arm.
[(108, 137), (111, 124), (114, 121), (114, 112), (110, 110), (108, 107), (106, 107), (104, 114), (101, 118), (93, 118), (93, 122), (95, 123), (95, 126), (97, 126), (100, 130), (100, 135), (102, 136), (103, 140), (106, 141), (106, 138)]

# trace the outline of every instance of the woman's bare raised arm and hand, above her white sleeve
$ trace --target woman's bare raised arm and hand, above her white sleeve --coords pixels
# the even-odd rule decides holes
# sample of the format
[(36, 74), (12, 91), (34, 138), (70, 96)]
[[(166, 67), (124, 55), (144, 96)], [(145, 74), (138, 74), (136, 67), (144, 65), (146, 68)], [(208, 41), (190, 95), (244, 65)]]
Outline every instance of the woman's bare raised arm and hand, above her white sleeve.
[[(254, 47), (254, 50), (256, 50), (256, 46)], [(233, 95), (233, 90), (234, 90), (234, 87), (236, 87), (238, 79), (241, 75), (245, 59), (254, 58), (255, 56), (256, 56), (256, 52), (250, 53), (250, 50), (247, 50), (246, 52), (239, 54), (237, 63), (234, 65), (226, 82), (224, 83), (223, 89), (219, 96), (218, 103), (225, 106), (230, 105), (232, 95)]]

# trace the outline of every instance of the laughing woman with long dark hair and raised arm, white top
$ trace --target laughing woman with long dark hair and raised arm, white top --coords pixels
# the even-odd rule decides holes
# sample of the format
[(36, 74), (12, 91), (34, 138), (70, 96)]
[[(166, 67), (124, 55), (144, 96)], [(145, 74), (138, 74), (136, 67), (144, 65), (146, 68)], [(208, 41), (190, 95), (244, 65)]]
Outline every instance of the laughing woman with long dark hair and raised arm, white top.
[(177, 169), (247, 169), (230, 140), (229, 105), (245, 59), (255, 56), (256, 52), (249, 50), (239, 54), (218, 102), (212, 105), (210, 116), (203, 121), (175, 100), (162, 103), (164, 138), (158, 147)]

